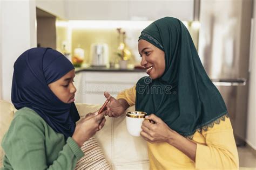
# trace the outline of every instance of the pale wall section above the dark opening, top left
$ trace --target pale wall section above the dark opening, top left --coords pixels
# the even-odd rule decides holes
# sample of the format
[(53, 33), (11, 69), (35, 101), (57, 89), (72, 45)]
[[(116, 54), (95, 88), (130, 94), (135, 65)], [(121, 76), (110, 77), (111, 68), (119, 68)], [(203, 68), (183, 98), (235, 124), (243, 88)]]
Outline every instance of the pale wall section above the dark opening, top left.
[(36, 0), (36, 6), (52, 15), (65, 19), (65, 0)]

